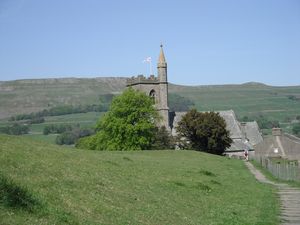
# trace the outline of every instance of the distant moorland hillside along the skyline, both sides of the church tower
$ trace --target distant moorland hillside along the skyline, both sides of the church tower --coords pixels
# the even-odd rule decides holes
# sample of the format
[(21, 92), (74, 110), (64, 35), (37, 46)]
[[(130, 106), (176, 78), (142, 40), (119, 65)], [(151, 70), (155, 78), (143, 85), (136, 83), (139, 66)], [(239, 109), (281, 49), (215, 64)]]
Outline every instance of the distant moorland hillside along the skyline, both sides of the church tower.
[[(63, 104), (96, 104), (100, 95), (120, 93), (125, 85), (124, 77), (0, 82), (0, 118)], [(300, 86), (170, 84), (169, 92), (194, 101), (199, 110), (233, 109), (239, 117), (266, 115), (282, 122), (300, 115)]]

